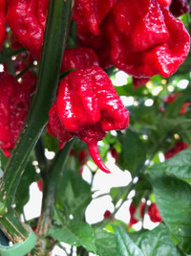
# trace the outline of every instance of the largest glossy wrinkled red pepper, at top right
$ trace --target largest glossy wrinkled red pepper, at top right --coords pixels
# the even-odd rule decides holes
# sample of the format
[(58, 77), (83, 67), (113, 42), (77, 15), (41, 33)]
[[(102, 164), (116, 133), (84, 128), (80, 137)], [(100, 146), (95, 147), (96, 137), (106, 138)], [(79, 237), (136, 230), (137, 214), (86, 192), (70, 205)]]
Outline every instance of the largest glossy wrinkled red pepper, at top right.
[(121, 0), (110, 15), (107, 33), (118, 69), (137, 78), (167, 78), (186, 58), (189, 34), (157, 0)]

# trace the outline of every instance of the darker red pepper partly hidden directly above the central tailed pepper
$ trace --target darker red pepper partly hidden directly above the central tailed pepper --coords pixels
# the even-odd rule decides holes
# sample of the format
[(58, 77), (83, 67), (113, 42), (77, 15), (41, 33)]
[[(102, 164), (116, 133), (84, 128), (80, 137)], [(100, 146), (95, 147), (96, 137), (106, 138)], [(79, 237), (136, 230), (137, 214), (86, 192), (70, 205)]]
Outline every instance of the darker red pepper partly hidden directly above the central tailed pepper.
[(85, 68), (98, 64), (99, 62), (96, 53), (91, 48), (78, 47), (67, 49), (64, 52), (61, 72), (72, 68)]

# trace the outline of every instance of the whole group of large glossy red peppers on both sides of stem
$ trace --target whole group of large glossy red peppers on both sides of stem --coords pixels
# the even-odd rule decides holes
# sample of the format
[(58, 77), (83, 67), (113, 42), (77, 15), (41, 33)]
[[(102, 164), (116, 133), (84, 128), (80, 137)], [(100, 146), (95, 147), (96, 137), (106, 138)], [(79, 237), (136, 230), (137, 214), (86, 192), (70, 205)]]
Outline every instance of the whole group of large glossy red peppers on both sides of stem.
[[(101, 161), (97, 142), (107, 131), (127, 128), (129, 113), (102, 68), (115, 65), (133, 76), (137, 86), (154, 75), (167, 78), (175, 73), (190, 47), (183, 23), (175, 18), (189, 12), (184, 2), (75, 0), (73, 20), (79, 47), (65, 51), (61, 72), (76, 70), (60, 81), (47, 126), (60, 149), (76, 136), (87, 144), (96, 165), (110, 173)], [(176, 13), (174, 6), (180, 3), (180, 13)], [(31, 60), (39, 60), (48, 5), (49, 0), (0, 0), (0, 47), (7, 22), (17, 45), (29, 51)], [(19, 59), (14, 64), (22, 70)], [(32, 81), (30, 72), (21, 83), (7, 73), (0, 75), (4, 92), (0, 95), (0, 148), (9, 155), (24, 124), (36, 80)]]

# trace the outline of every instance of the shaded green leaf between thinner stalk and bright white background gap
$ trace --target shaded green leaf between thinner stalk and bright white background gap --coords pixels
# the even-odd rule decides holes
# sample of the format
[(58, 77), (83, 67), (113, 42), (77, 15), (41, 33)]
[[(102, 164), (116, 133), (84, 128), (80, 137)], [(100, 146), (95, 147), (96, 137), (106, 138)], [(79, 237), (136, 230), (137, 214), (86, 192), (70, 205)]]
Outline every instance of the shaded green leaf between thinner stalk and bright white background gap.
[(91, 202), (91, 186), (74, 171), (66, 170), (61, 177), (57, 191), (57, 202), (69, 218), (84, 220), (85, 210)]

